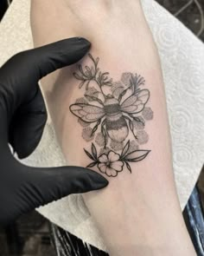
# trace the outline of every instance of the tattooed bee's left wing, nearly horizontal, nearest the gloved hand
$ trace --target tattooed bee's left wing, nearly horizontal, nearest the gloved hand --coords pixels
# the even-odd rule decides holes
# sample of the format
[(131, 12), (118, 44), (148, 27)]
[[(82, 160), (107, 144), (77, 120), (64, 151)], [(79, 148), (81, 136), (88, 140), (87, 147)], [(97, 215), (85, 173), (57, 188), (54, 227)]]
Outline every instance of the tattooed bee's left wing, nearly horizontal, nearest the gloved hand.
[(73, 115), (78, 116), (82, 121), (86, 122), (98, 121), (105, 115), (104, 108), (85, 103), (72, 104), (69, 109)]

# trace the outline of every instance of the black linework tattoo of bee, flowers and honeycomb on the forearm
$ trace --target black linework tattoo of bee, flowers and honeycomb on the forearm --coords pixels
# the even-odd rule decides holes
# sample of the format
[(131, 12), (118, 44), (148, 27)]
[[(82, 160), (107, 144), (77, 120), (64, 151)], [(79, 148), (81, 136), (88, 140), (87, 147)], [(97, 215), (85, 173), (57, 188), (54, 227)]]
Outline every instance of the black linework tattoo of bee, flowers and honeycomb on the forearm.
[[(73, 73), (80, 80), (79, 88), (85, 88), (84, 96), (69, 108), (83, 128), (82, 137), (92, 142), (90, 152), (84, 148), (92, 162), (109, 177), (119, 172), (131, 172), (131, 162), (142, 161), (150, 150), (140, 149), (149, 140), (145, 123), (153, 119), (153, 111), (146, 107), (150, 99), (149, 89), (141, 89), (145, 80), (141, 75), (123, 73), (121, 80), (113, 82), (108, 72), (99, 69), (99, 57), (89, 54), (92, 65)], [(134, 140), (128, 140), (128, 135)], [(96, 146), (99, 146), (99, 152)]]

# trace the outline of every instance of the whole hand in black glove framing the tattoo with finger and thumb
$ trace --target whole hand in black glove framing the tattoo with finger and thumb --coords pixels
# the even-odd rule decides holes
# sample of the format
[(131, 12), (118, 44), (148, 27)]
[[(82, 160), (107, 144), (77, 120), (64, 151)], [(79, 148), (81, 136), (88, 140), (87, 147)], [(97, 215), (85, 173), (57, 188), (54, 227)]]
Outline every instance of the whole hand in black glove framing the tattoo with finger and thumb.
[(0, 224), (68, 194), (103, 188), (108, 181), (83, 167), (36, 168), (22, 165), (47, 121), (38, 81), (55, 69), (78, 62), (90, 48), (83, 38), (71, 38), (31, 49), (10, 58), (0, 69)]

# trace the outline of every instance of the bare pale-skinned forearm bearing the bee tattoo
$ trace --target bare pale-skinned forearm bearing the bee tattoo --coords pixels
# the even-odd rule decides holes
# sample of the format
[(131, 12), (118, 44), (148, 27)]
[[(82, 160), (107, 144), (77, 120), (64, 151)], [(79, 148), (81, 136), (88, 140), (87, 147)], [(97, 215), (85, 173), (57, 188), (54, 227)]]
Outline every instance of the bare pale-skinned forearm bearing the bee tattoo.
[[(108, 126), (107, 115), (110, 111), (116, 111), (116, 107), (113, 109), (106, 106), (105, 116), (101, 114), (103, 118), (100, 118), (101, 122), (92, 139), (88, 132), (97, 122), (86, 126), (88, 121), (79, 114), (79, 109), (70, 107), (81, 101), (85, 103), (81, 98), (84, 99), (87, 93), (86, 82), (81, 89), (79, 84), (86, 80), (86, 75), (81, 74), (78, 66), (74, 65), (72, 68), (49, 75), (42, 82), (58, 139), (68, 163), (87, 166), (91, 162), (96, 162), (92, 169), (100, 173), (104, 172), (105, 177), (107, 174), (109, 176), (117, 174), (116, 177), (109, 177), (110, 184), (103, 191), (84, 196), (109, 252), (111, 255), (195, 255), (182, 220), (175, 191), (169, 124), (159, 57), (140, 3), (138, 1), (128, 1), (128, 3), (89, 1), (89, 4), (83, 1), (60, 2), (53, 1), (52, 6), (48, 1), (32, 2), (31, 24), (35, 45), (79, 35), (85, 36), (92, 42), (90, 53), (93, 60), (86, 56), (80, 64), (83, 68), (85, 66), (94, 68), (94, 62), (99, 57), (99, 71), (110, 73), (108, 75), (108, 81), (112, 78), (110, 86), (105, 86), (103, 82), (95, 79), (94, 74), (91, 75), (89, 88), (99, 90), (99, 93), (93, 95), (102, 99), (102, 105), (105, 105), (105, 97), (101, 95), (101, 88), (104, 89), (104, 94), (108, 95), (113, 94), (113, 86), (117, 89), (118, 85), (120, 87), (122, 84), (124, 90), (133, 83), (136, 91), (145, 89), (150, 94), (150, 98), (143, 96), (143, 100), (141, 99), (143, 112), (135, 115), (139, 118), (143, 116), (144, 128), (141, 120), (132, 119), (132, 114), (137, 111), (134, 110), (130, 115), (129, 109), (124, 120), (127, 127), (124, 128), (124, 124), (118, 121), (120, 128), (126, 129), (126, 132), (124, 131), (122, 135), (118, 132), (120, 138), (114, 138), (112, 129), (117, 128), (118, 123)], [(77, 75), (74, 76), (73, 73)], [(128, 76), (130, 73), (133, 76)], [(145, 80), (143, 84), (137, 84), (136, 73), (143, 76)], [(51, 83), (52, 89), (50, 89)], [(133, 89), (129, 89), (127, 95), (128, 93), (133, 95)], [(123, 102), (127, 95), (124, 95), (120, 102), (120, 109), (123, 111), (125, 109)], [(138, 98), (139, 95), (137, 93), (136, 95)], [(117, 97), (117, 91), (115, 96)], [(101, 102), (90, 102), (90, 98), (87, 100), (87, 97), (86, 102), (101, 107)], [(131, 107), (134, 107), (132, 105), (133, 103)], [(82, 108), (83, 104), (78, 104), (79, 107)], [(106, 122), (103, 123), (104, 119)], [(101, 130), (102, 124), (104, 126)], [(106, 164), (106, 167), (103, 167), (104, 157), (99, 158), (99, 154), (104, 152), (104, 142), (102, 139), (99, 140), (100, 132), (102, 134), (106, 132), (109, 143), (107, 147), (114, 152), (114, 156), (108, 155), (106, 159), (108, 158), (109, 163), (119, 161), (118, 166), (109, 164), (107, 167)], [(128, 141), (131, 141), (129, 153), (139, 149), (144, 150), (143, 154), (137, 152), (131, 156), (129, 154), (129, 159), (128, 157), (123, 159), (122, 151)], [(93, 161), (84, 151), (85, 148), (92, 153), (92, 142), (98, 154)], [(115, 154), (119, 157), (117, 158)], [(142, 161), (133, 161), (139, 160), (139, 157)], [(126, 162), (129, 165), (126, 165)]]

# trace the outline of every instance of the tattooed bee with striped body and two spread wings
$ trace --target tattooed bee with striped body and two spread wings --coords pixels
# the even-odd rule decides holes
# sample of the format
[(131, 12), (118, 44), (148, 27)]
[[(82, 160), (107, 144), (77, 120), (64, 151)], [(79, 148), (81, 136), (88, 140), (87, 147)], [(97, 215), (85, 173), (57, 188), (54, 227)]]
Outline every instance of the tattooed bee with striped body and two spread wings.
[(143, 111), (150, 98), (150, 91), (148, 89), (137, 90), (123, 102), (121, 102), (122, 97), (119, 98), (105, 95), (105, 101), (101, 102), (102, 108), (88, 103), (75, 103), (70, 106), (70, 111), (82, 121), (97, 122), (96, 129), (103, 120), (101, 127), (105, 134), (112, 141), (123, 142), (129, 135), (129, 129), (132, 131), (131, 118), (137, 119), (138, 113)]

